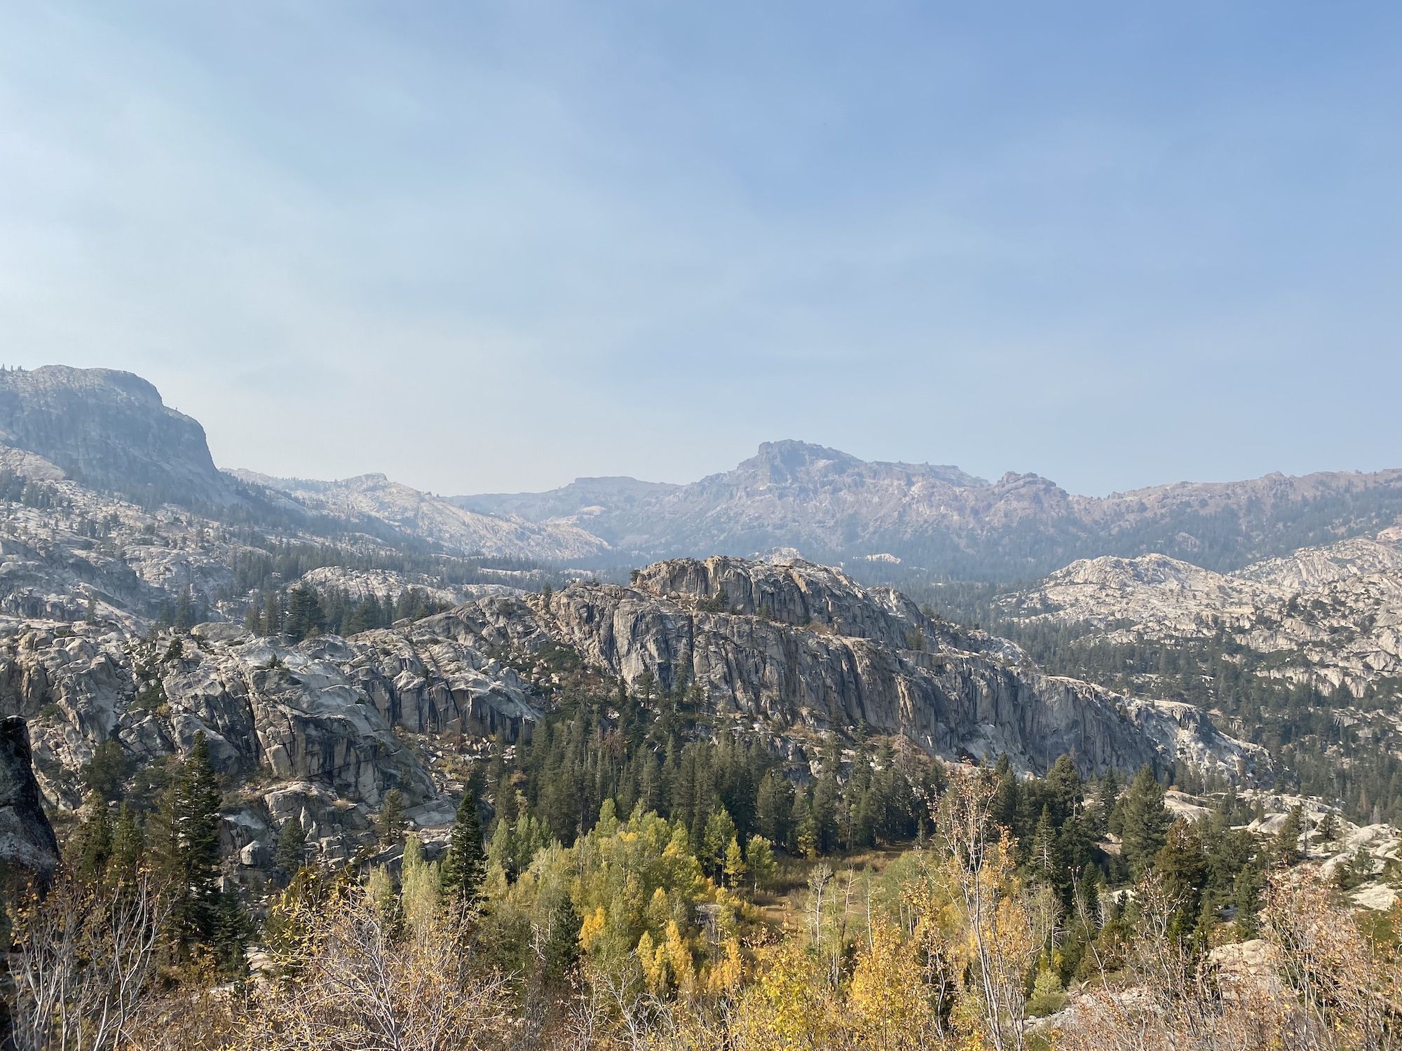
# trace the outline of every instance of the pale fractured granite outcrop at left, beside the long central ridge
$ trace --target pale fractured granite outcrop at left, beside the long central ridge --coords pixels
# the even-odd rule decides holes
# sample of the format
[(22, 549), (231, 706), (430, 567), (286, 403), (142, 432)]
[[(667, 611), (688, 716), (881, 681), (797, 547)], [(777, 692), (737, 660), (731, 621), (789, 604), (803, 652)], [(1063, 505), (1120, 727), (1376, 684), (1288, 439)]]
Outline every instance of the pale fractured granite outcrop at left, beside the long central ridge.
[(529, 734), (538, 694), (471, 642), (481, 638), (443, 618), (297, 646), (227, 624), (150, 640), (119, 628), (0, 621), (0, 713), (29, 720), (38, 782), (66, 810), (79, 804), (77, 775), (102, 741), (116, 741), (136, 768), (186, 753), (203, 733), (226, 783), (244, 786), (224, 834), (245, 863), (266, 859), (293, 814), (335, 860), (369, 834), (391, 788), (423, 824), (450, 820), (447, 782), (404, 734)]

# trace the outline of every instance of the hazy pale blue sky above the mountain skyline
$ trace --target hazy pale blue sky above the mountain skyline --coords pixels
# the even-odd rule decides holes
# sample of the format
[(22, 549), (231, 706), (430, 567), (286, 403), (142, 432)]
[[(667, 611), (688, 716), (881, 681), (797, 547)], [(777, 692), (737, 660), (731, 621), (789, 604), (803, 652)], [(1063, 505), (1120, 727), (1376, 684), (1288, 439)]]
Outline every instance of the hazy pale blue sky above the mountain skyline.
[(1391, 0), (4, 4), (0, 359), (436, 492), (1402, 465), (1399, 53)]

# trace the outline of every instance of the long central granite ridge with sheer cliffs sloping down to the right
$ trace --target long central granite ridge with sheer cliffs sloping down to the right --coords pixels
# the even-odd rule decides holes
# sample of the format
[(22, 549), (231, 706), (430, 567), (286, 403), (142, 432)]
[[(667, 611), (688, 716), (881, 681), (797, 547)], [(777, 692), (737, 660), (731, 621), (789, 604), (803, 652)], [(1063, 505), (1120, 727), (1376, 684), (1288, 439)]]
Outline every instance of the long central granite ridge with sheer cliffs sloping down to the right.
[(866, 727), (948, 758), (1007, 753), (1032, 771), (1070, 753), (1087, 772), (1186, 761), (1265, 774), (1259, 750), (1187, 705), (1043, 675), (1011, 643), (803, 562), (676, 559), (631, 587), (576, 583), (526, 603), (551, 639), (606, 673), (695, 684), (716, 713), (777, 733)]

